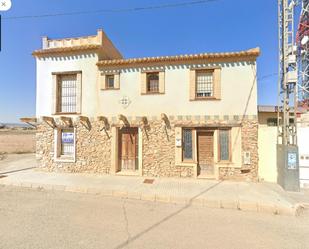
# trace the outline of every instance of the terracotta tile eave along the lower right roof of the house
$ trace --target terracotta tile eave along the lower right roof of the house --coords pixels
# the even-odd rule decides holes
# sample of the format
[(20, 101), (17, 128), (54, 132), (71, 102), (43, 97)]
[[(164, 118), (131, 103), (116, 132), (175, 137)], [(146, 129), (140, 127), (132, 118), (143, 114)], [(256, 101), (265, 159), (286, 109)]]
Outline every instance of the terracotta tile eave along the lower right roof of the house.
[(201, 54), (185, 54), (175, 56), (158, 56), (158, 57), (143, 57), (143, 58), (130, 58), (130, 59), (115, 59), (115, 60), (101, 60), (97, 66), (122, 66), (131, 64), (147, 64), (157, 62), (187, 62), (205, 59), (241, 59), (247, 58), (255, 60), (260, 55), (260, 48), (252, 48), (239, 52), (228, 53), (201, 53)]

